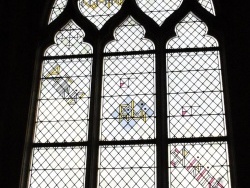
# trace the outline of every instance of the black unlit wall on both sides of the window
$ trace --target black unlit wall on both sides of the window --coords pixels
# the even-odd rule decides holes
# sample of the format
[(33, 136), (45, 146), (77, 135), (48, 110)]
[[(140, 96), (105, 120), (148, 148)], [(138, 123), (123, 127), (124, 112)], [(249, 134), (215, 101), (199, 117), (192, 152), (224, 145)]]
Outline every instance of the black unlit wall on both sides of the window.
[[(49, 0), (0, 2), (1, 175), (4, 188), (17, 188), (29, 112), (41, 18)], [(214, 0), (218, 1), (218, 0)], [(225, 32), (228, 91), (234, 132), (238, 187), (248, 187), (250, 167), (250, 15), (247, 1), (219, 0)]]

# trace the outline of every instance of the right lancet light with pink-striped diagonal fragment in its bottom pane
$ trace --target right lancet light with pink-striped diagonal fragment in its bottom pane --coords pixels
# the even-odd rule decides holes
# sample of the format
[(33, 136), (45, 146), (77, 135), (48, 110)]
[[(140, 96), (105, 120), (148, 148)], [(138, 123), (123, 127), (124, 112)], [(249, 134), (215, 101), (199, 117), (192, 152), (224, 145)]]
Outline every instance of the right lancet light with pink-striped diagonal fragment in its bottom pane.
[[(167, 53), (168, 136), (226, 136), (218, 42), (193, 13), (177, 24), (176, 34), (166, 47), (184, 52)], [(230, 187), (226, 142), (172, 143), (168, 149), (170, 187)]]

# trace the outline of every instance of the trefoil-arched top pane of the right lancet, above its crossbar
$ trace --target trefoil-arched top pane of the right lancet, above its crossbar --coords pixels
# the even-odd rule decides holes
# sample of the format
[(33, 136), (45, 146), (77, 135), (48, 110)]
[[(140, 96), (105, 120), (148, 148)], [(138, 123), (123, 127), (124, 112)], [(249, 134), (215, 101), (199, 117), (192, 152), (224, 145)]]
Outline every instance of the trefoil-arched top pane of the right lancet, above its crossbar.
[(192, 12), (176, 25), (177, 37), (167, 43), (168, 49), (216, 47), (218, 43), (213, 37), (206, 35), (207, 26)]

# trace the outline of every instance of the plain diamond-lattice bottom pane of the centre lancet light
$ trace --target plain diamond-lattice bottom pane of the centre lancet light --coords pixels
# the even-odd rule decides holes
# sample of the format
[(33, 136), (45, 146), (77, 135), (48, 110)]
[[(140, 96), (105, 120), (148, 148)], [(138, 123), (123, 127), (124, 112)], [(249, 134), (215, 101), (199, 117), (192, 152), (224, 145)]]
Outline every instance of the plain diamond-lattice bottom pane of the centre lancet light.
[(156, 187), (154, 145), (102, 146), (99, 163), (100, 188)]

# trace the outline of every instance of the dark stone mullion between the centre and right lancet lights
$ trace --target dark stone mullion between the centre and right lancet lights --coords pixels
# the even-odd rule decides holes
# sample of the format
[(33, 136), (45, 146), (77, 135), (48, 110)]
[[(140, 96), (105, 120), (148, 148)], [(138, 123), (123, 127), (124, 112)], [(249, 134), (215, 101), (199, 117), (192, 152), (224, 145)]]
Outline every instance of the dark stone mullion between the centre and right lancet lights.
[(157, 187), (167, 188), (167, 119), (166, 119), (166, 55), (164, 40), (156, 46), (156, 138), (157, 138)]

